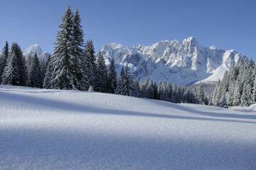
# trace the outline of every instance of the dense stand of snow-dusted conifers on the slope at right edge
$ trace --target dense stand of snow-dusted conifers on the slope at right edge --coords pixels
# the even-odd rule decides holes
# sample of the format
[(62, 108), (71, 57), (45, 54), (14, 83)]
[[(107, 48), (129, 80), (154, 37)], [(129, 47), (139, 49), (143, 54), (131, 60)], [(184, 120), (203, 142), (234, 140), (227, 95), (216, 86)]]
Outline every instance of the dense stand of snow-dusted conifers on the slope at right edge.
[(256, 101), (256, 67), (252, 59), (242, 58), (225, 72), (222, 81), (218, 81), (209, 105), (214, 106), (250, 106)]

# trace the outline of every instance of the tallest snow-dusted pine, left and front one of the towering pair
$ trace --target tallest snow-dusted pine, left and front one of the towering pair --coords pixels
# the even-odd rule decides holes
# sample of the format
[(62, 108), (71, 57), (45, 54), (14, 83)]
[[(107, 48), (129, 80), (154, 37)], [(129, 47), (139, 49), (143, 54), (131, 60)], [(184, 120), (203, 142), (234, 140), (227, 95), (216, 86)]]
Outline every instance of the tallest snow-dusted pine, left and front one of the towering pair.
[(52, 89), (82, 90), (78, 72), (79, 58), (75, 55), (73, 35), (73, 13), (70, 6), (66, 9), (60, 23), (61, 30), (55, 42), (53, 52), (53, 74), (50, 81)]

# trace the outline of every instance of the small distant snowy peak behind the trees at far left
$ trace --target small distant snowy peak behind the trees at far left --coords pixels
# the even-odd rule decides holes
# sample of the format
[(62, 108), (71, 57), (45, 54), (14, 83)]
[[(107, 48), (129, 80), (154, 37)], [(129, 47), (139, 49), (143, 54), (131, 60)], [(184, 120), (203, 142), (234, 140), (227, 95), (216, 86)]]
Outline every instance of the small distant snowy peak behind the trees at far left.
[(36, 53), (36, 55), (38, 56), (38, 59), (41, 62), (46, 62), (50, 55), (50, 53), (48, 53), (48, 52), (43, 52), (43, 50), (41, 49), (41, 47), (39, 45), (31, 45), (29, 47), (26, 47), (22, 50), (22, 52), (23, 52), (23, 56), (25, 56), (26, 58), (29, 55), (34, 55)]

